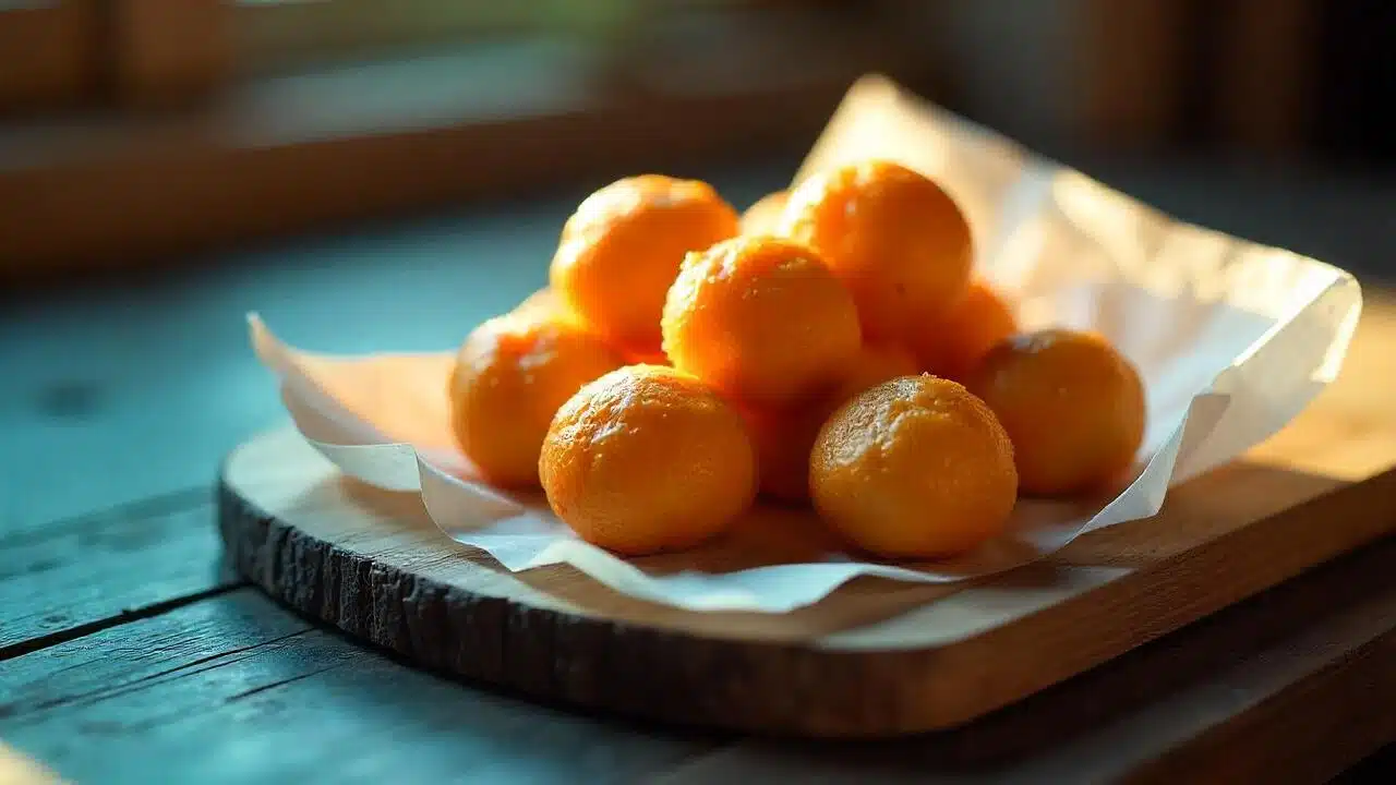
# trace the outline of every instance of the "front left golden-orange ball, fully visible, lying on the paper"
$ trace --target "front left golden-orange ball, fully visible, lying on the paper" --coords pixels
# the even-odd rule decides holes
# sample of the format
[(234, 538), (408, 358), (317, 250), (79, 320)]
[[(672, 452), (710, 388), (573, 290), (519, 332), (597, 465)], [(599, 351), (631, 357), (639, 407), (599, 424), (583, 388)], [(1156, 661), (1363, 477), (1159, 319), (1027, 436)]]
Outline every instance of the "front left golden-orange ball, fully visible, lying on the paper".
[(656, 366), (623, 367), (567, 401), (539, 476), (578, 536), (627, 556), (698, 545), (757, 492), (737, 411), (697, 379)]

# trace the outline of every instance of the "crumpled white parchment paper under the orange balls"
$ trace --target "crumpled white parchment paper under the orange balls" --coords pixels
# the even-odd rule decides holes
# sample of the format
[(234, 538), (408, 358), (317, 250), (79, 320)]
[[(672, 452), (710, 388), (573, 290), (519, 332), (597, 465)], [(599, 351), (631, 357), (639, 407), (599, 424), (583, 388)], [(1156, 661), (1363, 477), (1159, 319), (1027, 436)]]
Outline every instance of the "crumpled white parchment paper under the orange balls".
[[(976, 236), (976, 265), (1019, 303), (1025, 328), (1096, 330), (1139, 367), (1149, 426), (1135, 479), (1118, 496), (1022, 500), (1008, 535), (934, 564), (860, 560), (839, 552), (812, 514), (769, 508), (704, 549), (624, 560), (577, 539), (540, 497), (472, 480), (450, 437), (450, 351), (314, 355), (282, 344), (255, 316), (253, 346), (321, 454), (370, 485), (420, 493), (447, 535), (505, 568), (567, 563), (653, 602), (779, 613), (856, 575), (965, 580), (1152, 515), (1170, 486), (1293, 419), (1335, 379), (1357, 327), (1361, 292), (1347, 272), (1174, 222), (878, 77), (850, 89), (801, 173), (868, 156), (919, 169), (955, 196)], [(355, 324), (371, 330), (371, 318)]]

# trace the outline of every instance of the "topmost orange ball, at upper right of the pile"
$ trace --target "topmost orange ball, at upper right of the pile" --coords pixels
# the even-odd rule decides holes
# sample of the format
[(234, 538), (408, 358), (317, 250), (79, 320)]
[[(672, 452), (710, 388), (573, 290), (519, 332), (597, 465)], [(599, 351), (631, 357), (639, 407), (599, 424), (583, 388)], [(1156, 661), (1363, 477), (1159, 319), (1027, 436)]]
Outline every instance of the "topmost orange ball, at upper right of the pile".
[(818, 250), (859, 303), (863, 332), (902, 339), (965, 293), (973, 247), (959, 205), (898, 163), (868, 161), (812, 175), (793, 191), (778, 233)]

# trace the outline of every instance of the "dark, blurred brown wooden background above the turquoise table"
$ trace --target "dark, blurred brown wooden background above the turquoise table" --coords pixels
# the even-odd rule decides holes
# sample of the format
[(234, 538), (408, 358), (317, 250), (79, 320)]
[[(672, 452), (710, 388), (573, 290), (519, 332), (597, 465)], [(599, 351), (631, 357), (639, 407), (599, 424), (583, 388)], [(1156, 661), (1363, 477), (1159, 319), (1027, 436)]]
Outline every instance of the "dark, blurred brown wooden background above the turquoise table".
[(642, 169), (755, 198), (870, 71), (1385, 275), (1393, 22), (1386, 0), (0, 0), (0, 285)]

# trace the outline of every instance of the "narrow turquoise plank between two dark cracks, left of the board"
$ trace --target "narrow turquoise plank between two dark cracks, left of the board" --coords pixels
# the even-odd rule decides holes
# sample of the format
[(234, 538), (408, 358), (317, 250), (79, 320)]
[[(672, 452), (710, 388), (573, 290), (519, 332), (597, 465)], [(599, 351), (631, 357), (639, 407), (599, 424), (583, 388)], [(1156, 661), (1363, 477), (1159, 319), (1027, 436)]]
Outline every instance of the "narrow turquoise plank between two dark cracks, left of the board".
[(0, 529), (0, 661), (240, 585), (212, 521), (195, 489)]

